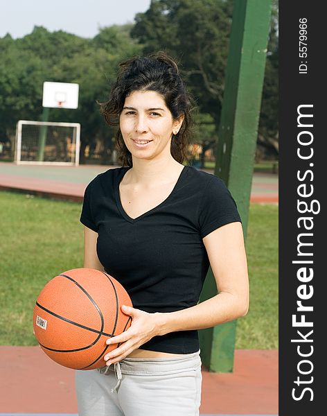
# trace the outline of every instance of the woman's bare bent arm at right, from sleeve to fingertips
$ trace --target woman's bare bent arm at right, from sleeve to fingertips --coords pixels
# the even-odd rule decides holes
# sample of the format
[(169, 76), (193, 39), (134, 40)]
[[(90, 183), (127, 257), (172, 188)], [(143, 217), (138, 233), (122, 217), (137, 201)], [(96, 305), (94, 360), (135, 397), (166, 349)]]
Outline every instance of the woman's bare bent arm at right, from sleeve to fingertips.
[(146, 313), (123, 306), (132, 316), (132, 326), (121, 335), (107, 340), (108, 344), (123, 343), (105, 356), (107, 365), (121, 361), (134, 349), (157, 335), (215, 327), (244, 316), (249, 307), (247, 260), (240, 223), (230, 223), (211, 232), (203, 239), (208, 253), (218, 295), (182, 311)]

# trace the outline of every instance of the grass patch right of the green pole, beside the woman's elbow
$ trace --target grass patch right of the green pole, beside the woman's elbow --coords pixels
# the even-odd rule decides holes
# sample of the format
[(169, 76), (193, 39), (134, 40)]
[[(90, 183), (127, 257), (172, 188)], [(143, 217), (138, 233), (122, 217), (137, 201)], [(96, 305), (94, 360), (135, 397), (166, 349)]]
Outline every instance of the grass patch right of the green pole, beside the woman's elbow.
[(247, 232), (250, 307), (236, 348), (278, 348), (278, 206), (251, 204)]

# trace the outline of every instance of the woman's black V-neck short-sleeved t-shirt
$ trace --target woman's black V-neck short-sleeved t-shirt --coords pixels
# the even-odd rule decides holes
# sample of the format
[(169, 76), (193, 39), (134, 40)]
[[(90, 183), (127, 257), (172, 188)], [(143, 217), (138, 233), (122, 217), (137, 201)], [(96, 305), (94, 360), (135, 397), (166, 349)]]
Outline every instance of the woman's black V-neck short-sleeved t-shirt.
[[(98, 233), (98, 258), (125, 287), (134, 308), (153, 313), (194, 306), (209, 268), (202, 239), (240, 221), (236, 203), (218, 177), (184, 166), (168, 198), (132, 219), (119, 196), (128, 169), (109, 169), (89, 183), (80, 221)], [(199, 350), (199, 339), (197, 331), (178, 331), (141, 348), (190, 354)]]

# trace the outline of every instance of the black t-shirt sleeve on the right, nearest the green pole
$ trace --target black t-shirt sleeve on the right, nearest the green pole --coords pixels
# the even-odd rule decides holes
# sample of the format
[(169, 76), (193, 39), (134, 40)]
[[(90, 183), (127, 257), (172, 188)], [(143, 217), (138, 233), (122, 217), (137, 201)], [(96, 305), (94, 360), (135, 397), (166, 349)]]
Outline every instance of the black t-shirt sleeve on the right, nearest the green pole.
[(241, 222), (236, 202), (224, 182), (213, 175), (204, 189), (199, 207), (202, 239), (222, 225), (235, 222)]

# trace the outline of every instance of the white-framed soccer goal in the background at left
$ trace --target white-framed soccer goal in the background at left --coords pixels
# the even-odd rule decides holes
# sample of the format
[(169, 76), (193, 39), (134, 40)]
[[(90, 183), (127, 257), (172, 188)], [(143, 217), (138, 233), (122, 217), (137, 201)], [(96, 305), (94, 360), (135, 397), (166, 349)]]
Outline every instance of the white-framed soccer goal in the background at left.
[(19, 120), (17, 164), (75, 165), (80, 159), (80, 123)]

